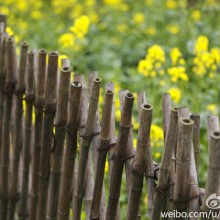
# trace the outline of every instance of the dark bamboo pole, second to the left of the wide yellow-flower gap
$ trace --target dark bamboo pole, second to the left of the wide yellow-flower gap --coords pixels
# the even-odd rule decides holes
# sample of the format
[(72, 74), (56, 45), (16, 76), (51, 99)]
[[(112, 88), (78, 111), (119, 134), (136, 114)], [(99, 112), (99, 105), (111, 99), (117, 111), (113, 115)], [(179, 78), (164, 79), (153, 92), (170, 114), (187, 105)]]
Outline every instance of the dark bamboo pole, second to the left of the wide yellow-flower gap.
[(114, 157), (114, 164), (112, 167), (106, 220), (116, 219), (117, 207), (120, 197), (122, 172), (123, 172), (125, 159), (127, 159), (126, 147), (129, 136), (129, 130), (131, 127), (133, 101), (134, 101), (133, 94), (127, 93), (124, 99), (124, 104), (123, 104), (124, 108), (121, 117), (119, 138), (116, 146), (117, 150)]

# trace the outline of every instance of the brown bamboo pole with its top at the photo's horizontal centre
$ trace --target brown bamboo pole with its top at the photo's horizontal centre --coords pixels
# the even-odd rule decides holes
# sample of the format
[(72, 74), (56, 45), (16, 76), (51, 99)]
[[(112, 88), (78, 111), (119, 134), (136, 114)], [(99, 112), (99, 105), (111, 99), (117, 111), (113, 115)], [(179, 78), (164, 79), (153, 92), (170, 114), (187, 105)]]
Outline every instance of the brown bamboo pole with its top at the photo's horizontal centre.
[(102, 198), (102, 189), (105, 173), (105, 162), (109, 147), (110, 120), (112, 109), (113, 93), (107, 90), (105, 93), (105, 102), (102, 115), (102, 126), (100, 133), (100, 144), (98, 147), (97, 170), (95, 174), (95, 186), (93, 191), (91, 216), (90, 219), (100, 219), (100, 205)]

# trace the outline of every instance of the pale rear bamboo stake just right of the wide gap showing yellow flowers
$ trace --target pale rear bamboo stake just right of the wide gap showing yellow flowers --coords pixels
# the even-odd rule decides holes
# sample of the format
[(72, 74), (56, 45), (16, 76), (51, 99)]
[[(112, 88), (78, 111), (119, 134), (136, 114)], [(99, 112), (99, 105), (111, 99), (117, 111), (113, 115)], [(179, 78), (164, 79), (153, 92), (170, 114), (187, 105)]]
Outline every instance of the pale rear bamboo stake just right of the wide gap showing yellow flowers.
[(171, 111), (171, 96), (169, 93), (164, 93), (162, 96), (162, 109), (163, 109), (163, 130), (164, 130), (164, 143), (166, 143), (166, 136), (170, 124), (170, 111)]

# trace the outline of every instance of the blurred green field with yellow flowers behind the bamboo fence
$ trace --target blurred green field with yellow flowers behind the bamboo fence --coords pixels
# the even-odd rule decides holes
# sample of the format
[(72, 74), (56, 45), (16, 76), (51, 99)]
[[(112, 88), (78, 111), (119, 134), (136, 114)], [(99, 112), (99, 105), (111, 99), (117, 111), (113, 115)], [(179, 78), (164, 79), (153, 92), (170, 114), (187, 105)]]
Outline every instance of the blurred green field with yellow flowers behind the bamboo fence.
[[(204, 187), (206, 119), (219, 113), (219, 0), (0, 0), (0, 12), (8, 15), (7, 31), (18, 46), (25, 40), (32, 49), (59, 51), (60, 59), (70, 59), (73, 73), (87, 75), (97, 70), (104, 82), (115, 82), (116, 96), (121, 89), (145, 91), (154, 106), (151, 141), (155, 161), (160, 161), (163, 152), (162, 94), (171, 94), (173, 106), (187, 105), (191, 112), (200, 113), (199, 183)], [(119, 120), (116, 98), (117, 123)], [(137, 100), (133, 126), (135, 146)], [(120, 202), (122, 207), (127, 204), (125, 186)], [(144, 193), (143, 215), (146, 210)], [(121, 211), (125, 213), (126, 208)]]

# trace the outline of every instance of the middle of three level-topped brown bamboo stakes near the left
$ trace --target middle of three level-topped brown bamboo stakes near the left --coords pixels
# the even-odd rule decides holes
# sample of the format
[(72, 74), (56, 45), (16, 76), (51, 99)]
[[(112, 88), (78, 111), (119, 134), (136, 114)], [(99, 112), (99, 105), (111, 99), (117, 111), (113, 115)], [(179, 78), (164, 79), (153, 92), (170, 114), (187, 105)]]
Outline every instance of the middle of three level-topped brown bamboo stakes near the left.
[(46, 56), (47, 52), (44, 49), (40, 49), (38, 52), (38, 71), (36, 77), (34, 147), (32, 152), (32, 181), (29, 214), (30, 220), (37, 219), (39, 182), (38, 173), (40, 164), (40, 152), (42, 147), (43, 106), (45, 102)]

